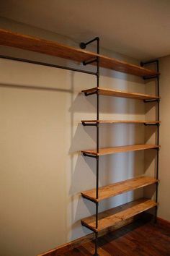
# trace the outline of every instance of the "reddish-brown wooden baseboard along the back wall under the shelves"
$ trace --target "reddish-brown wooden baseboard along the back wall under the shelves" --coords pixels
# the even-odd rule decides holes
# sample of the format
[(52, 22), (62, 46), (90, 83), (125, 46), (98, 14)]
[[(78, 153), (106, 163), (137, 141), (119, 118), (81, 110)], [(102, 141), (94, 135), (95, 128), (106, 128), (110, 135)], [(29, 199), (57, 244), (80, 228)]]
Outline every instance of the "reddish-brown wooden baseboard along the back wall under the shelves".
[[(130, 223), (132, 223), (133, 221), (135, 221), (136, 219), (140, 218), (139, 216), (135, 216), (132, 218), (128, 218), (128, 220), (125, 221), (121, 221), (120, 223), (118, 223), (115, 226), (109, 227), (108, 229), (104, 229), (104, 231), (100, 231), (99, 232), (99, 236), (104, 236), (105, 234), (115, 231), (117, 229), (122, 228), (123, 226), (126, 226)], [(82, 236), (79, 239), (73, 240), (71, 242), (68, 242), (66, 244), (63, 244), (61, 246), (55, 247), (54, 249), (50, 249), (48, 252), (43, 252), (40, 255), (37, 256), (57, 256), (60, 255), (62, 253), (68, 252), (69, 250), (79, 247), (79, 245), (81, 244), (85, 244), (87, 242), (91, 242), (92, 240), (94, 240), (94, 233), (88, 234), (86, 236)]]

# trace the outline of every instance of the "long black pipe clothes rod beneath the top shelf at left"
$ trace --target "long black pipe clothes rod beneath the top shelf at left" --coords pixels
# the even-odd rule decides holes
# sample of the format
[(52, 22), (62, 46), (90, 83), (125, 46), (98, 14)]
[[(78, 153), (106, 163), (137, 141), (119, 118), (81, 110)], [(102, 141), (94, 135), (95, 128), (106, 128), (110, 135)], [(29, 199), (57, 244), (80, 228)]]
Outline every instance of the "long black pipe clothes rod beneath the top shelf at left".
[(81, 72), (81, 73), (85, 73), (85, 74), (97, 75), (96, 72), (91, 72), (91, 71), (86, 71), (86, 70), (81, 70), (81, 69), (74, 69), (73, 67), (64, 67), (64, 66), (56, 65), (56, 64), (49, 64), (49, 63), (45, 63), (45, 62), (41, 62), (41, 61), (32, 61), (30, 59), (21, 59), (21, 58), (5, 56), (5, 55), (0, 55), (0, 58), (1, 59), (10, 59), (12, 61), (21, 61), (21, 62), (26, 62), (26, 63), (30, 63), (30, 64), (36, 64), (36, 65), (41, 65), (41, 66), (45, 66), (45, 67), (55, 67), (58, 69), (66, 69), (66, 70)]

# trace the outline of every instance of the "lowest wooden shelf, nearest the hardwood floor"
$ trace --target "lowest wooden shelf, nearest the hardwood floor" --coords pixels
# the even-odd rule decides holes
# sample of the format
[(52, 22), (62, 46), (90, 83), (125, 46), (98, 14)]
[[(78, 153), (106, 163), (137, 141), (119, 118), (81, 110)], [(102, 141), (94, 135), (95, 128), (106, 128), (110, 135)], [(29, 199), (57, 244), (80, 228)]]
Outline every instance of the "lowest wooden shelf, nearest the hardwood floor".
[(90, 216), (81, 220), (83, 226), (96, 231), (102, 231), (109, 226), (114, 226), (120, 221), (138, 215), (145, 210), (155, 207), (157, 204), (153, 200), (142, 198), (133, 202), (128, 202), (125, 205), (120, 205), (116, 208), (106, 210), (103, 213), (99, 213), (98, 229), (96, 229), (96, 216)]

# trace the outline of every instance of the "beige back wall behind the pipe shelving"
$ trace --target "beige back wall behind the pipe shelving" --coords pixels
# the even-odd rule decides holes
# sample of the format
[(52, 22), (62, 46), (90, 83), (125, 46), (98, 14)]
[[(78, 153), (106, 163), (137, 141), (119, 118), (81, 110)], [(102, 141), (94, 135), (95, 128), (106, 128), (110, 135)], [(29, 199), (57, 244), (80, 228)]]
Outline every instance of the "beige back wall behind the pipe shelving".
[[(4, 19), (1, 27), (76, 45), (68, 38)], [(102, 39), (102, 38), (101, 38)], [(65, 60), (17, 49), (1, 54), (73, 65)], [(105, 54), (119, 56), (102, 49)], [(134, 59), (121, 56), (133, 63)], [(80, 67), (77, 64), (77, 67)], [(93, 69), (90, 67), (90, 69)], [(139, 77), (101, 69), (106, 88), (145, 93)], [(76, 239), (89, 231), (80, 219), (94, 213), (94, 204), (80, 192), (95, 186), (95, 161), (80, 150), (95, 148), (95, 128), (81, 119), (94, 119), (96, 98), (81, 90), (96, 85), (89, 74), (0, 59), (1, 218), (3, 256), (31, 256)], [(101, 118), (145, 119), (142, 101), (102, 96)], [(141, 124), (102, 125), (101, 146), (144, 142)], [(121, 153), (100, 158), (100, 185), (143, 174), (144, 153)], [(101, 203), (99, 210), (143, 195), (128, 192)], [(160, 212), (161, 214), (161, 212)]]

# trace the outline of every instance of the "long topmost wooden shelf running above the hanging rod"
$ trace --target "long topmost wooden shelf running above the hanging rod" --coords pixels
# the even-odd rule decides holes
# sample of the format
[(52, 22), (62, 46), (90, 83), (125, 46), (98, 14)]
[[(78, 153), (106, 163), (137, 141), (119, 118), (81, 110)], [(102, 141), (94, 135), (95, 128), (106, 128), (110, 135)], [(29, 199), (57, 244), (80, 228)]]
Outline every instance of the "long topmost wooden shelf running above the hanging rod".
[(127, 74), (134, 74), (139, 77), (153, 77), (159, 73), (125, 61), (109, 58), (107, 56), (91, 53), (81, 49), (65, 46), (55, 41), (34, 38), (29, 35), (14, 33), (9, 30), (0, 29), (0, 45), (22, 48), (27, 51), (36, 51), (41, 54), (58, 56), (73, 61), (87, 61), (99, 56), (99, 65), (107, 69), (117, 70)]

